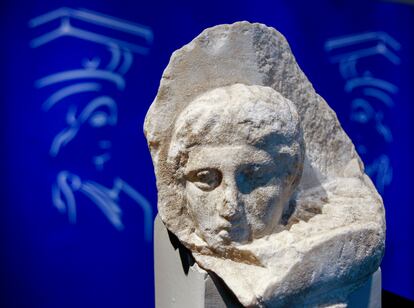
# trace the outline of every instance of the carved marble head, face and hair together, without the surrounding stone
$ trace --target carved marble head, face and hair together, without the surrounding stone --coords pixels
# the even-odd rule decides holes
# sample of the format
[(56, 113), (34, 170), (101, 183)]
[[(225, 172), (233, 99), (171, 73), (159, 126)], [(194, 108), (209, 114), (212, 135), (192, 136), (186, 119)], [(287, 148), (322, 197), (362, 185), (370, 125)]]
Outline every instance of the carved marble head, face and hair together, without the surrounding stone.
[(277, 229), (303, 158), (295, 106), (271, 88), (243, 84), (192, 101), (168, 153), (195, 233), (216, 250)]

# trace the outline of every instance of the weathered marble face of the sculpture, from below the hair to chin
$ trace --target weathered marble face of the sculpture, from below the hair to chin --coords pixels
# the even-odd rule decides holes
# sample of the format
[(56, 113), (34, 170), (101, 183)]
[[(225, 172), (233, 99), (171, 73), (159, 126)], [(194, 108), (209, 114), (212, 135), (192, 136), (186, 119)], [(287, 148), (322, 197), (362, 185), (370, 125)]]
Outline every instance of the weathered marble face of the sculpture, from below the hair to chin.
[(291, 169), (247, 144), (198, 146), (185, 168), (187, 205), (198, 234), (217, 246), (272, 233), (290, 194)]

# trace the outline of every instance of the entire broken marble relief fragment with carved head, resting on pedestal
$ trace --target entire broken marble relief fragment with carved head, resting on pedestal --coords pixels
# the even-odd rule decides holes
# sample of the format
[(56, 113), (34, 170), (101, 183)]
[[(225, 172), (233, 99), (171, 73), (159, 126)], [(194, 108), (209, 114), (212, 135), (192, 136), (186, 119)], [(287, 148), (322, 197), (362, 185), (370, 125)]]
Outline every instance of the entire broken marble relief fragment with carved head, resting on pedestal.
[(174, 52), (144, 129), (161, 219), (242, 305), (346, 304), (378, 268), (382, 200), (276, 30)]

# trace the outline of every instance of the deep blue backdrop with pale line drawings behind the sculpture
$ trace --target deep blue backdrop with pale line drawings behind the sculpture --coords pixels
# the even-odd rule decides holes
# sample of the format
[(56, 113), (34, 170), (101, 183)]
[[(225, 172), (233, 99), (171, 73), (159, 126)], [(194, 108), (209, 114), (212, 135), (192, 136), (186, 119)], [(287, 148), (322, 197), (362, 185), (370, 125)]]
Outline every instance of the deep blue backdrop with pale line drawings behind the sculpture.
[(154, 306), (145, 113), (171, 53), (238, 20), (337, 112), (384, 198), (383, 287), (414, 300), (411, 3), (3, 1), (0, 306)]

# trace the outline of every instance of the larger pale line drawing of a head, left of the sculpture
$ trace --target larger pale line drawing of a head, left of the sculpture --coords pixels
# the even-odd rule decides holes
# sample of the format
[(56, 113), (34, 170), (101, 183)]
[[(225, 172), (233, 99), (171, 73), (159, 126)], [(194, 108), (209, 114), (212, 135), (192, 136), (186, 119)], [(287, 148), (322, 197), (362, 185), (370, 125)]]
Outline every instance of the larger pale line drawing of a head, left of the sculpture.
[[(109, 53), (107, 63), (102, 60), (107, 57), (96, 55), (84, 58), (78, 68), (57, 69), (35, 81), (35, 88), (39, 91), (49, 91), (42, 104), (43, 111), (50, 112), (63, 101), (70, 102), (65, 127), (51, 142), (49, 154), (54, 158), (82, 133), (84, 126), (99, 129), (118, 124), (117, 102), (111, 95), (103, 94), (103, 89), (109, 84), (116, 91), (125, 91), (125, 75), (134, 63), (134, 54), (147, 55), (154, 37), (149, 27), (99, 12), (67, 7), (31, 19), (29, 27), (40, 33), (30, 42), (30, 46), (35, 49), (44, 48), (52, 42), (58, 43), (66, 37), (97, 44)], [(91, 99), (91, 94), (96, 96)], [(80, 102), (85, 100), (84, 95), (88, 95), (86, 106), (80, 107)], [(98, 147), (102, 152), (93, 155), (91, 162), (98, 172), (103, 172), (105, 164), (112, 157), (112, 142), (100, 140)], [(124, 227), (118, 195), (123, 193), (129, 196), (144, 211), (145, 240), (151, 241), (151, 205), (119, 176), (114, 177), (114, 186), (109, 189), (93, 180), (82, 181), (80, 176), (70, 171), (59, 172), (52, 187), (52, 202), (61, 212), (67, 212), (71, 223), (77, 220), (75, 192), (87, 196), (118, 230)]]

